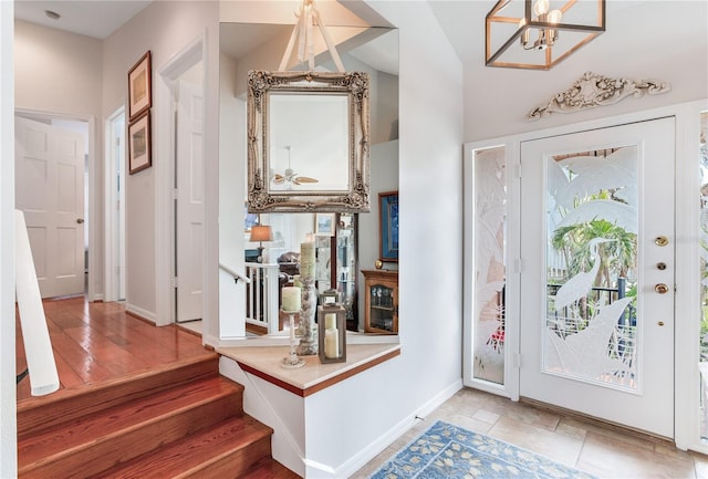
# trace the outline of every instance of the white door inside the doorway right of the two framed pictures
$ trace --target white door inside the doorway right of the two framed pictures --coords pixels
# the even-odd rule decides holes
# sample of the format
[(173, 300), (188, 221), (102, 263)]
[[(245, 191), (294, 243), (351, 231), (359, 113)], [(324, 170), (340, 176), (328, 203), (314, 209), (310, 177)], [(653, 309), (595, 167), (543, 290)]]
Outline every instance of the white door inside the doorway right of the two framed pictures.
[(204, 100), (179, 81), (177, 114), (177, 322), (202, 316)]

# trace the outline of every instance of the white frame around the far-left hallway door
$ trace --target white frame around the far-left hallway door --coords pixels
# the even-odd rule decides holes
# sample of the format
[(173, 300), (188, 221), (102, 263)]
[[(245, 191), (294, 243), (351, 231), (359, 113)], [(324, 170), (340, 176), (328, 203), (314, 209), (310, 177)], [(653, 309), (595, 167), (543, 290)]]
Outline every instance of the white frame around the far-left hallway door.
[[(28, 115), (34, 117), (44, 117), (50, 119), (64, 119), (73, 122), (85, 122), (88, 124), (88, 145), (86, 150), (88, 152), (88, 196), (84, 199), (88, 205), (88, 279), (86, 290), (86, 301), (101, 301), (103, 300), (103, 292), (96, 291), (96, 280), (98, 277), (98, 269), (96, 265), (96, 238), (101, 228), (98, 221), (97, 194), (96, 186), (98, 185), (98, 173), (96, 167), (96, 118), (92, 115), (74, 115), (66, 113), (58, 113), (43, 110), (29, 110), (29, 108), (15, 108), (15, 115)], [(102, 261), (103, 263), (103, 261)]]

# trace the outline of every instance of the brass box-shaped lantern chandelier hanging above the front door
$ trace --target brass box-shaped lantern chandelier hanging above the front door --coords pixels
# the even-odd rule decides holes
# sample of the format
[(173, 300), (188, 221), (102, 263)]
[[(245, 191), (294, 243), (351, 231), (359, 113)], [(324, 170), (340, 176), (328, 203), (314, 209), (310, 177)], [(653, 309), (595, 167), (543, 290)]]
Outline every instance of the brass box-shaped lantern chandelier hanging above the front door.
[(486, 18), (485, 61), (550, 70), (604, 31), (605, 0), (499, 0)]

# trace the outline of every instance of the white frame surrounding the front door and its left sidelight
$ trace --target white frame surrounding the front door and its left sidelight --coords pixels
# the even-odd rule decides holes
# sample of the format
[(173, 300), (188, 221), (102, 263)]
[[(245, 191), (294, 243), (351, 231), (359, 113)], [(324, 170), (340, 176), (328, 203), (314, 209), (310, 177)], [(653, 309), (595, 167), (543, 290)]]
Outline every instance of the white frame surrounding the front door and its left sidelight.
[[(517, 135), (504, 136), (500, 138), (491, 138), (480, 142), (465, 144), (465, 183), (466, 195), (469, 189), (471, 170), (470, 160), (473, 157), (472, 152), (479, 148), (488, 148), (491, 146), (504, 145), (510, 163), (514, 164), (520, 159), (521, 142), (535, 139), (540, 137), (563, 135), (580, 131), (605, 128), (613, 125), (635, 123), (647, 119), (654, 119), (663, 116), (676, 117), (676, 330), (675, 330), (675, 437), (674, 440), (679, 449), (691, 449), (708, 454), (708, 445), (700, 441), (700, 372), (698, 371), (698, 342), (700, 337), (699, 309), (700, 301), (700, 261), (698, 250), (698, 238), (700, 233), (700, 225), (698, 218), (700, 215), (699, 204), (697, 201), (700, 181), (698, 178), (697, 147), (698, 136), (700, 133), (700, 112), (708, 111), (708, 98), (696, 100), (675, 105), (668, 105), (658, 108), (645, 110), (613, 117), (605, 117), (589, 122), (568, 124), (553, 128), (544, 128), (533, 132), (521, 133)], [(582, 116), (582, 113), (579, 114)], [(568, 118), (571, 118), (570, 115)], [(572, 119), (571, 119), (572, 121)], [(511, 175), (510, 175), (511, 176)], [(696, 191), (690, 195), (689, 191)], [(466, 205), (469, 201), (466, 199)], [(513, 215), (513, 209), (510, 215)], [(470, 258), (473, 251), (470, 251), (473, 243), (470, 238), (470, 228), (473, 222), (471, 211), (466, 208), (465, 212), (465, 313), (464, 313), (464, 367), (462, 382), (466, 386), (486, 389), (494, 394), (511, 397), (517, 400), (519, 398), (519, 374), (518, 374), (518, 337), (509, 337), (509, 348), (512, 350), (507, 355), (506, 362), (506, 383), (502, 386), (494, 386), (488, 382), (481, 382), (473, 378), (473, 368), (471, 357), (471, 347), (467, 344), (471, 341), (472, 334), (472, 298), (470, 292)], [(510, 237), (508, 248), (510, 251), (519, 251), (519, 238)], [(679, 247), (680, 246), (680, 247)], [(509, 257), (510, 264), (518, 257), (511, 254)], [(507, 265), (509, 268), (509, 264)], [(511, 271), (511, 270), (510, 270)], [(514, 274), (509, 274), (513, 279)], [(507, 306), (518, 304), (518, 299), (507, 295)], [(512, 336), (512, 332), (519, 331), (518, 314), (509, 313), (507, 315), (507, 333)], [(518, 334), (518, 333), (517, 333)], [(696, 347), (686, 347), (686, 345), (696, 345)]]

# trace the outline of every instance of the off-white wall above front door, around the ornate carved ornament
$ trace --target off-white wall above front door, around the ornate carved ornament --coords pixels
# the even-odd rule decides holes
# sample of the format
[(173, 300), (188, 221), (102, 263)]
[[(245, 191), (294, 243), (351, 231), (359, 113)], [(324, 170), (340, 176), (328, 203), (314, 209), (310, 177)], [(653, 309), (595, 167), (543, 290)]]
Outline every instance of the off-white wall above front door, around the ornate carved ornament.
[[(548, 72), (486, 67), (480, 41), (479, 58), (465, 64), (465, 140), (531, 132), (708, 96), (708, 2), (613, 0), (606, 6), (606, 31)], [(587, 71), (614, 79), (657, 79), (670, 83), (671, 91), (525, 122), (529, 111), (546, 104)]]

